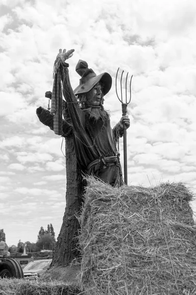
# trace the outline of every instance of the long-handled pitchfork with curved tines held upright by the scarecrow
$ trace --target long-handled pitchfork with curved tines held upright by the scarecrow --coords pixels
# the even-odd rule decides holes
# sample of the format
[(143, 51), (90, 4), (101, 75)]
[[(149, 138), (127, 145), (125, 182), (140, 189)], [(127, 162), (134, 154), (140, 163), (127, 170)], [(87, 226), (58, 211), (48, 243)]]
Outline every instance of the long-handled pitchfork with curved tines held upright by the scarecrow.
[[(123, 71), (124, 72), (124, 71)], [(128, 77), (128, 73), (126, 74), (126, 80), (125, 80), (125, 102), (123, 102), (123, 87), (122, 87), (122, 79), (123, 79), (123, 72), (121, 74), (121, 99), (119, 98), (118, 95), (118, 91), (117, 91), (117, 77), (118, 77), (118, 73), (119, 73), (119, 68), (117, 70), (117, 74), (116, 74), (116, 94), (118, 99), (120, 100), (120, 102), (122, 103), (122, 115), (126, 116), (127, 114), (127, 105), (130, 103), (131, 101), (131, 80), (133, 75), (131, 76), (131, 80), (130, 80), (130, 84), (129, 84), (129, 100), (127, 100), (127, 77)], [(123, 122), (123, 150), (124, 150), (124, 182), (127, 184), (127, 148), (126, 148), (126, 125)]]

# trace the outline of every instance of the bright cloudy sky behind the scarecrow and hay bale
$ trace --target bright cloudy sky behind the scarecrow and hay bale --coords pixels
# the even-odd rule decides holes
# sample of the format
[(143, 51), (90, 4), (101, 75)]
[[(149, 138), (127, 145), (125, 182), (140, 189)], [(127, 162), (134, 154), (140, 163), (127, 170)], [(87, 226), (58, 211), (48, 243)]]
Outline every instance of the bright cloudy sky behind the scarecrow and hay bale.
[(184, 181), (196, 192), (195, 28), (195, 0), (1, 0), (0, 229), (8, 245), (36, 242), (49, 223), (57, 237), (62, 224), (65, 142), (36, 116), (48, 107), (59, 48), (75, 49), (73, 89), (79, 59), (110, 73), (112, 127), (122, 114), (116, 71), (133, 74), (128, 183)]

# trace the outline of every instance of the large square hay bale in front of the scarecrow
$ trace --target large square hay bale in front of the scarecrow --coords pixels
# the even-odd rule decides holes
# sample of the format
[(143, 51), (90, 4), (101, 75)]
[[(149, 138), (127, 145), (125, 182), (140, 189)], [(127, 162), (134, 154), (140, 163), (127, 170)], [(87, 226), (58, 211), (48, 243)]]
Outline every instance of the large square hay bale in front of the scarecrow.
[(193, 194), (186, 186), (87, 181), (79, 240), (85, 294), (196, 294)]

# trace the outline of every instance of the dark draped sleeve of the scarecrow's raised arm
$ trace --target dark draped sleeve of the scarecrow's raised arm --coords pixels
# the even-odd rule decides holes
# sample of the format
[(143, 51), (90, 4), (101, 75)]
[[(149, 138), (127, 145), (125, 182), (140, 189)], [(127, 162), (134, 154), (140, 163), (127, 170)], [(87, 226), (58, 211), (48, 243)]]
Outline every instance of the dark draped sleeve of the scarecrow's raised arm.
[(70, 83), (69, 70), (66, 63), (60, 63), (61, 80), (63, 85), (63, 95), (67, 102), (68, 111), (72, 120), (73, 129), (76, 132), (83, 132), (85, 129), (85, 115), (80, 109), (79, 103)]

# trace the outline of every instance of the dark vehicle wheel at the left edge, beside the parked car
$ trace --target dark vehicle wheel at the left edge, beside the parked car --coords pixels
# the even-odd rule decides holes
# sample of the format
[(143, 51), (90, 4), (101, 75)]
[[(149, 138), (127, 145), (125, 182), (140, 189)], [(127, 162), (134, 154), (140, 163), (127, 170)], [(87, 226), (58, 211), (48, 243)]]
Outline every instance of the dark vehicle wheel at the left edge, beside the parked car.
[(0, 277), (5, 278), (23, 278), (23, 269), (21, 265), (13, 258), (6, 258), (0, 262)]

